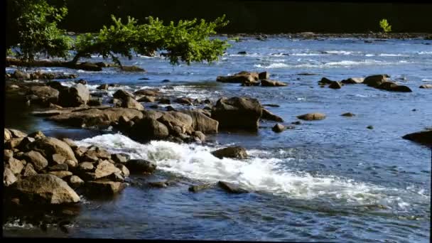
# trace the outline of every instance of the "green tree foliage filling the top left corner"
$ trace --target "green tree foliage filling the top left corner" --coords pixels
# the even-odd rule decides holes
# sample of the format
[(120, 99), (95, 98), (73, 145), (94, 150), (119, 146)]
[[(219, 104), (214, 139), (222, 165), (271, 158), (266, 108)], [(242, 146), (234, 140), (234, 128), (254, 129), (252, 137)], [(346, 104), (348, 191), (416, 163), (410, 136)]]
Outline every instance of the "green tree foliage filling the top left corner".
[(68, 57), (72, 38), (57, 27), (68, 13), (65, 6), (56, 8), (45, 0), (15, 0), (11, 4), (19, 11), (12, 20), (16, 21), (16, 39), (10, 43), (18, 58), (31, 61), (39, 53), (48, 57)]

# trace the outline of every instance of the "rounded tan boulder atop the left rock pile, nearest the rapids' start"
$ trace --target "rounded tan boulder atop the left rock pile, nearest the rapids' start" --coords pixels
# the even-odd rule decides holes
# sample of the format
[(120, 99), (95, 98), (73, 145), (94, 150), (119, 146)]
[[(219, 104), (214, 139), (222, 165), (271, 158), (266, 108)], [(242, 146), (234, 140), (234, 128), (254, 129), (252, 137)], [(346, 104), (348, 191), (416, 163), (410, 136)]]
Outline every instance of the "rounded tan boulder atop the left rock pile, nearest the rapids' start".
[(40, 152), (45, 158), (53, 158), (53, 154), (58, 153), (61, 156), (64, 156), (67, 160), (70, 159), (72, 161), (77, 161), (72, 148), (70, 148), (70, 146), (65, 142), (55, 138), (46, 137), (38, 139), (29, 144), (28, 147), (31, 150)]

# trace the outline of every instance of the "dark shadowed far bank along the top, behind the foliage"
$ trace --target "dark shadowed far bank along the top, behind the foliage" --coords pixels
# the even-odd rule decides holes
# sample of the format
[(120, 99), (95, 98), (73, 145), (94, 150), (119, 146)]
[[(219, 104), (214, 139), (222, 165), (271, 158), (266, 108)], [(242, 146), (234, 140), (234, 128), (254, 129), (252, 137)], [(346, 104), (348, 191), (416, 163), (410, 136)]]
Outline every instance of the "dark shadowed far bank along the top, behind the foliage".
[[(59, 2), (51, 0), (49, 2)], [(431, 4), (314, 2), (314, 1), (167, 1), (167, 0), (66, 0), (69, 13), (62, 27), (92, 32), (110, 23), (110, 14), (144, 20), (157, 16), (164, 21), (185, 18), (215, 19), (226, 13), (230, 23), (224, 33), (365, 33), (380, 31), (379, 20), (387, 18), (394, 32), (431, 33)], [(190, 11), (192, 10), (193, 11)]]

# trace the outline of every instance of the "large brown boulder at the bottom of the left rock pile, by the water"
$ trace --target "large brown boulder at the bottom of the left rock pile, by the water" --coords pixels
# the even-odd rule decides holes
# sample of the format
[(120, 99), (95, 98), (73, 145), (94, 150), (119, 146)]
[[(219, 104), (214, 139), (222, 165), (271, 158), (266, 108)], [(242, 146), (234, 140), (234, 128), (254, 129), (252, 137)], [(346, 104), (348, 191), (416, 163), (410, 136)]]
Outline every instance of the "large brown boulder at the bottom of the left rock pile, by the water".
[(80, 197), (68, 183), (49, 174), (23, 178), (13, 184), (13, 190), (20, 201), (34, 204), (63, 204), (80, 201)]

